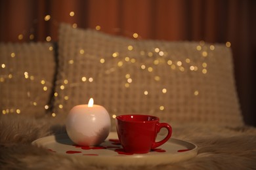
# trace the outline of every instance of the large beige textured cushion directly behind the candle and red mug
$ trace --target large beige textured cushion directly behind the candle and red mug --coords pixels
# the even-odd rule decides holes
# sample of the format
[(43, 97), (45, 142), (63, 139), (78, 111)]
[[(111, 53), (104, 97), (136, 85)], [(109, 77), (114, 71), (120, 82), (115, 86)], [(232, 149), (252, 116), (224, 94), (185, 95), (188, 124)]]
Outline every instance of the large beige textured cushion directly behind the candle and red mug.
[(243, 124), (232, 54), (223, 44), (136, 41), (60, 26), (54, 116), (104, 106), (112, 118), (139, 113), (161, 122)]

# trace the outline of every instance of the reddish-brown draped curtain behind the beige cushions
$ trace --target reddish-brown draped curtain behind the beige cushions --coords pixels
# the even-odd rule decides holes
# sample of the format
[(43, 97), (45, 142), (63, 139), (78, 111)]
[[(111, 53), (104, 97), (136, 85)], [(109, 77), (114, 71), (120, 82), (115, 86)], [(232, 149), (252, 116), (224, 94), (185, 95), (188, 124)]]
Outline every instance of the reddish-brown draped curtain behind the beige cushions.
[(254, 0), (0, 0), (0, 41), (58, 41), (58, 25), (167, 41), (231, 43), (242, 113), (256, 126)]

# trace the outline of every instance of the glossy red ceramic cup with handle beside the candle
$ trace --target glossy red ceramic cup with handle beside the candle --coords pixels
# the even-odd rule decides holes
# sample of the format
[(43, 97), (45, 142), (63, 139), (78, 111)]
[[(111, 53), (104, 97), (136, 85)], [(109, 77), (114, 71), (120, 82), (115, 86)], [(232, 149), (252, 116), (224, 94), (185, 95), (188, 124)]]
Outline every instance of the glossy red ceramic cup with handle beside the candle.
[[(161, 128), (168, 130), (166, 137), (156, 142)], [(127, 114), (116, 117), (117, 135), (123, 150), (133, 154), (144, 154), (164, 144), (171, 137), (172, 128), (169, 124), (160, 123), (156, 116)]]

